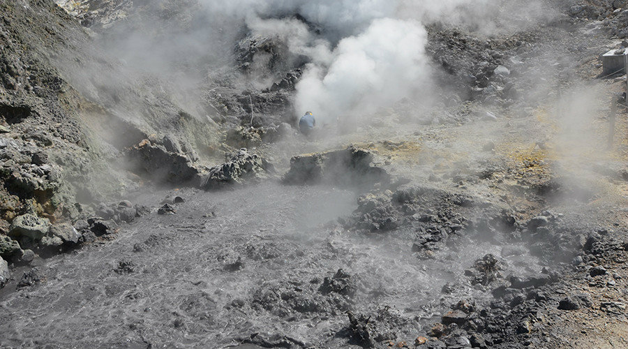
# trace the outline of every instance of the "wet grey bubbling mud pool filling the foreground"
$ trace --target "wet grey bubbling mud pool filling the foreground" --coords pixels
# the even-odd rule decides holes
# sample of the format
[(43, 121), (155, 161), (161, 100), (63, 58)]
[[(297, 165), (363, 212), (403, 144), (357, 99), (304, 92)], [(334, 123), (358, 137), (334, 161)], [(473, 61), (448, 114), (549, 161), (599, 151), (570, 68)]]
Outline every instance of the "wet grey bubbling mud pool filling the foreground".
[[(410, 248), (413, 231), (325, 228), (356, 208), (354, 192), (325, 185), (176, 194), (186, 199), (176, 214), (153, 209), (112, 242), (47, 260), (36, 267), (38, 283), (3, 295), (2, 345), (216, 348), (260, 332), (270, 343), (288, 336), (295, 346), (347, 346), (338, 334), (347, 310), (383, 312), (394, 321), (389, 339), (411, 343), (461, 297), (488, 297), (464, 282), (463, 269), (502, 248), (462, 237), (422, 260)], [(507, 259), (508, 272), (538, 272), (528, 258)], [(338, 269), (347, 285), (324, 290)], [(454, 291), (443, 294), (446, 283)]]

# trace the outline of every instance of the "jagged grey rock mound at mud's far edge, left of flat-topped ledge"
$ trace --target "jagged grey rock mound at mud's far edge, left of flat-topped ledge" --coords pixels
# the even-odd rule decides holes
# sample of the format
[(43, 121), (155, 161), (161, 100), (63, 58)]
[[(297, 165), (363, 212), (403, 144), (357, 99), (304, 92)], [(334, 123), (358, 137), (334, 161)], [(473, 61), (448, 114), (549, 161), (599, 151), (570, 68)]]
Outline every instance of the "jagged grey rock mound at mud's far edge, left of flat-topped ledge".
[(264, 158), (240, 149), (226, 163), (211, 168), (202, 179), (201, 188), (210, 190), (225, 185), (244, 184), (246, 181), (259, 181), (273, 171), (271, 163)]

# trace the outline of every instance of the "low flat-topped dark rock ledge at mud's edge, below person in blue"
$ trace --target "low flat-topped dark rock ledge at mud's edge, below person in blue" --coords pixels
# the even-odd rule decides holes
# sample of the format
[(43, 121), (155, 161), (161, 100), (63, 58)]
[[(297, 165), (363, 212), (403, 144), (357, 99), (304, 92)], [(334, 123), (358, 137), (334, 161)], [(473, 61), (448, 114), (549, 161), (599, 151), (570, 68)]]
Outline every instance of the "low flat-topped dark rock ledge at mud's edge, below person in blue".
[(295, 156), (290, 159), (290, 171), (283, 177), (283, 182), (285, 184), (330, 182), (355, 187), (389, 182), (389, 174), (382, 168), (371, 166), (371, 161), (373, 154), (356, 147)]

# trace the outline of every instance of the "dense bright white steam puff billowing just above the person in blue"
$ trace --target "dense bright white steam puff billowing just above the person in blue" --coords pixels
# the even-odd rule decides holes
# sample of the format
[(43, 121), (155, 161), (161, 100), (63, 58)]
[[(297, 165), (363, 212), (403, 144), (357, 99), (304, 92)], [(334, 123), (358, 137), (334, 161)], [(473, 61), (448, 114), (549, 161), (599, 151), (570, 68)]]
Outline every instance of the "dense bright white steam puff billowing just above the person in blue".
[(373, 21), (358, 36), (344, 38), (331, 64), (311, 64), (297, 85), (297, 111), (322, 119), (364, 114), (410, 96), (428, 77), (426, 31), (414, 21)]

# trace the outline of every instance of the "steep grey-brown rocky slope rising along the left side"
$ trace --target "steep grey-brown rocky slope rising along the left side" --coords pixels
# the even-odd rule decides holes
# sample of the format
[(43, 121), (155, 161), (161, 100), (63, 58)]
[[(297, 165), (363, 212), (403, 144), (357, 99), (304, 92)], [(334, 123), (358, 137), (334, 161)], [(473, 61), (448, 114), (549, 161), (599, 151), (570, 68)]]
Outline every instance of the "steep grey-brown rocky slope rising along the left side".
[[(187, 181), (200, 156), (222, 155), (213, 150), (220, 144), (216, 124), (187, 112), (176, 87), (125, 75), (124, 64), (72, 17), (102, 10), (119, 20), (123, 3), (59, 5), (70, 13), (52, 1), (0, 1), (0, 230), (36, 250), (52, 234), (47, 225), (88, 218), (91, 203), (124, 195), (138, 178)], [(159, 156), (133, 148), (142, 140)], [(174, 172), (154, 171), (169, 164)], [(10, 224), (25, 214), (47, 225), (20, 233)]]

